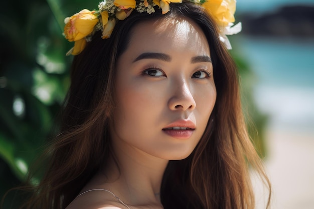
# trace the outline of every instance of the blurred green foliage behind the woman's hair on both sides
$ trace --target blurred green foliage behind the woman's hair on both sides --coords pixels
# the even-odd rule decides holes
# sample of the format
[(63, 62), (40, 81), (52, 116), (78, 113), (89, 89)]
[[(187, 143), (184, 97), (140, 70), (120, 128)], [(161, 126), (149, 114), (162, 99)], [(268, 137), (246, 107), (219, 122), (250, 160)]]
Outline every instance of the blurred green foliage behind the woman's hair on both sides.
[[(98, 0), (4, 1), (0, 13), (0, 196), (25, 180), (54, 129), (69, 86), (73, 46), (63, 35), (63, 20)], [(252, 71), (239, 53), (233, 55), (242, 74), (245, 109), (250, 110), (259, 133), (266, 117), (252, 99)], [(251, 111), (253, 110), (253, 111)], [(253, 126), (249, 126), (254, 130)], [(255, 144), (264, 153), (262, 140)], [(259, 136), (261, 139), (261, 136)], [(10, 197), (6, 202), (10, 202)], [(6, 207), (6, 202), (4, 208)]]

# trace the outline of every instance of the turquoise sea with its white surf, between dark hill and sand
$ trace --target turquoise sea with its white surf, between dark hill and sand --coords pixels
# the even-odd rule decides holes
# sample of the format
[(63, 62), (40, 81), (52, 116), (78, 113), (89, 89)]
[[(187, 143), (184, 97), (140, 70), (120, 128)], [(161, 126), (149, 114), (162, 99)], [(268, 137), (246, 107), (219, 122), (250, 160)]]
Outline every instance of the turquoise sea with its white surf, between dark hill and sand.
[(236, 45), (257, 75), (255, 100), (270, 126), (314, 132), (314, 39), (242, 37)]

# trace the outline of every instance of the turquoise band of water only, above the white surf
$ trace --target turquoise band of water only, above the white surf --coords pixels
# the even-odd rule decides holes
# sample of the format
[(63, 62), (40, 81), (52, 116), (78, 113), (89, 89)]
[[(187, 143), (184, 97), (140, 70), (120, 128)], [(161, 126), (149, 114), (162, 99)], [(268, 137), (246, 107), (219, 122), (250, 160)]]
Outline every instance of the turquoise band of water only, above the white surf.
[(240, 39), (241, 50), (261, 82), (314, 88), (314, 39)]

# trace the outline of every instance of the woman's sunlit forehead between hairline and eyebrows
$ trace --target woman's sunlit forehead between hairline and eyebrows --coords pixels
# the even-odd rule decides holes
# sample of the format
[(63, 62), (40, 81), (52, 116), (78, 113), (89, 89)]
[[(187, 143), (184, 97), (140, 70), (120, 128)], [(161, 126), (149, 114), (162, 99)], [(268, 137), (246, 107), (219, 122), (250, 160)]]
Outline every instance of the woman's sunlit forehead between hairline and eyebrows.
[(192, 20), (182, 17), (162, 18), (136, 25), (132, 32), (128, 50), (167, 53), (192, 53), (210, 55), (207, 39)]

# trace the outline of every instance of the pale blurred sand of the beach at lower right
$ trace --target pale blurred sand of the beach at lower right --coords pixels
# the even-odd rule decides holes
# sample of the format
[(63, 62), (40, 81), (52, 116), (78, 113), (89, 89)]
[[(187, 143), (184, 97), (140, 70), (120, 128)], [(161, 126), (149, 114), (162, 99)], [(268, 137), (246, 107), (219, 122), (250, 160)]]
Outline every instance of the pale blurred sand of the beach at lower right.
[[(314, 133), (269, 129), (265, 166), (273, 188), (273, 209), (314, 208)], [(264, 193), (255, 182), (257, 209)]]

